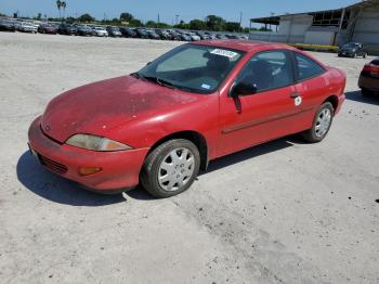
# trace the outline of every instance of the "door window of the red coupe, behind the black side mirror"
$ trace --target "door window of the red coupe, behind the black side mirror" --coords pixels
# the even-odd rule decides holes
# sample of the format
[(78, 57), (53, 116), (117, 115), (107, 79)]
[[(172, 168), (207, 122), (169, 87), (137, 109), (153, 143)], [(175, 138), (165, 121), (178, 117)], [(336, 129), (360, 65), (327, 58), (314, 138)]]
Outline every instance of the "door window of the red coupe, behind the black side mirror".
[(261, 52), (250, 59), (237, 77), (257, 88), (257, 92), (278, 89), (293, 83), (292, 61), (286, 51)]

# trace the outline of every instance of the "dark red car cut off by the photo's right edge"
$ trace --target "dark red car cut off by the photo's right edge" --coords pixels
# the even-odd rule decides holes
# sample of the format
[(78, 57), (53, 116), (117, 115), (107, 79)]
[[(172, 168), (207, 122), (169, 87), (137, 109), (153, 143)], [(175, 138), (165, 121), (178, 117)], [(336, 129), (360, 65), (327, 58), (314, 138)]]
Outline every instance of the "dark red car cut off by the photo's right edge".
[(363, 95), (379, 94), (379, 57), (363, 67), (358, 86)]

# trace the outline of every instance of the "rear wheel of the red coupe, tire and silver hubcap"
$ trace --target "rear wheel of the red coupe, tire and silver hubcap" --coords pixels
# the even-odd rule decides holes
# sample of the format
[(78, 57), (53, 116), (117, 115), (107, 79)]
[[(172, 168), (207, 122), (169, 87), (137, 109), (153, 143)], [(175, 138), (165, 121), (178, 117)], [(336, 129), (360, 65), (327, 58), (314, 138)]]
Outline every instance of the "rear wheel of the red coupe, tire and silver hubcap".
[(324, 103), (314, 116), (312, 128), (302, 133), (303, 139), (310, 143), (322, 142), (330, 130), (334, 115), (331, 103)]

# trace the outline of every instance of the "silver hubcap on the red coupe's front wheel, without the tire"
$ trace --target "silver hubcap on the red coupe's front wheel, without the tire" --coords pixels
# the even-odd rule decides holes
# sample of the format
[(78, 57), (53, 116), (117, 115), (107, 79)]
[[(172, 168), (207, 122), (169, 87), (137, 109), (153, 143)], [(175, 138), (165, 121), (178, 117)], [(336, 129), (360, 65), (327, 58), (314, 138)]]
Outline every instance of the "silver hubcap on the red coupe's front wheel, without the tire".
[(165, 191), (178, 191), (192, 178), (195, 158), (190, 149), (172, 150), (159, 166), (158, 182)]

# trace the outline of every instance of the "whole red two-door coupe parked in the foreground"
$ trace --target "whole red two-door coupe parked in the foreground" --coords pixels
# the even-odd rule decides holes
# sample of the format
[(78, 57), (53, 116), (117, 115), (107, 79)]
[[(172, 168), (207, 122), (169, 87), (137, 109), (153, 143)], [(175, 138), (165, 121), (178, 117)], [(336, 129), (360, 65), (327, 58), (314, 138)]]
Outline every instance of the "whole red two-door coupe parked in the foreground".
[(297, 49), (239, 40), (180, 46), (140, 72), (53, 99), (29, 129), (48, 169), (104, 193), (187, 190), (221, 156), (292, 133), (322, 141), (345, 76)]

